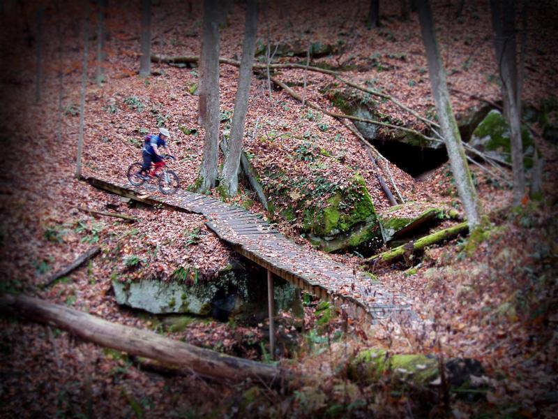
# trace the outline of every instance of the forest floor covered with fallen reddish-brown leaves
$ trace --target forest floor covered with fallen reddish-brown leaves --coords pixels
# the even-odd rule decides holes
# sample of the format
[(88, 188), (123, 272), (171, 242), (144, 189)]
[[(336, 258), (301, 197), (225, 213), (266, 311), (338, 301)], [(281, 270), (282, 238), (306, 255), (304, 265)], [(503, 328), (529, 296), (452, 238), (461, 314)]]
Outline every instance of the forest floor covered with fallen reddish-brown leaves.
[[(410, 22), (402, 22), (398, 3), (382, 3), (383, 26), (369, 30), (365, 28), (362, 4), (349, 3), (354, 4), (340, 10), (327, 1), (313, 2), (312, 7), (303, 1), (289, 7), (271, 2), (262, 12), (259, 36), (262, 43), (267, 38), (274, 42), (298, 38), (306, 44), (343, 41), (343, 52), (312, 64), (349, 68), (344, 73), (346, 78), (383, 89), (421, 115), (428, 115), (434, 104), (416, 15), (412, 14)], [(460, 114), (478, 106), (478, 98), (498, 101), (500, 93), (488, 5), (481, 1), (467, 3), (460, 20), (455, 20), (456, 3), (446, 6), (434, 2), (433, 7), (448, 83), (454, 89), (452, 105)], [(78, 10), (81, 4), (67, 6), (63, 16), (54, 6), (45, 13), (47, 42), (43, 43), (43, 57), (47, 58), (43, 61), (38, 103), (33, 55), (36, 39), (33, 30), (25, 26), (33, 16), (32, 10), (24, 10), (22, 19), (14, 21), (17, 30), (11, 38), (2, 39), (3, 57), (6, 61), (10, 58), (13, 66), (4, 66), (1, 79), (9, 98), (9, 106), (0, 110), (1, 138), (15, 156), (0, 169), (2, 291), (38, 295), (108, 321), (155, 329), (232, 355), (264, 359), (260, 342), (266, 335), (266, 325), (197, 319), (184, 330), (171, 332), (158, 318), (138, 316), (116, 304), (112, 277), (114, 272), (126, 269), (129, 256), (149, 258), (142, 275), (168, 277), (177, 266), (188, 264), (197, 268), (204, 281), (211, 281), (238, 256), (204, 226), (202, 216), (132, 205), (75, 179), (83, 13)], [(137, 77), (139, 10), (125, 2), (112, 7), (107, 81), (101, 86), (90, 83), (86, 93), (84, 175), (122, 182), (127, 166), (140, 159), (142, 137), (161, 123), (172, 132), (172, 149), (178, 157), (175, 169), (183, 185), (191, 185), (197, 178), (204, 138), (203, 128), (197, 124), (197, 96), (190, 93), (198, 79), (197, 68), (153, 64), (153, 71), (159, 75), (146, 80)], [(553, 16), (558, 10), (553, 8), (555, 4), (549, 1), (529, 10), (526, 109), (539, 109), (543, 98), (558, 96), (558, 37), (552, 36), (557, 34)], [(199, 54), (201, 6), (185, 9), (188, 7), (181, 1), (153, 5), (153, 52)], [(5, 13), (3, 19), (9, 15)], [(57, 26), (55, 22), (60, 23)], [(228, 24), (221, 30), (223, 57), (240, 56), (242, 33), (243, 5), (234, 3)], [(91, 35), (93, 51), (94, 41)], [(91, 80), (93, 56), (91, 53)], [(62, 80), (57, 73), (60, 70)], [(308, 101), (333, 109), (321, 93), (333, 82), (328, 75), (302, 70), (282, 70), (276, 75), (294, 84), (292, 88), (304, 93)], [(236, 68), (221, 66), (223, 128), (234, 108), (236, 78)], [(306, 89), (301, 83), (305, 78)], [(405, 126), (423, 128), (391, 103), (379, 105), (382, 112)], [(257, 383), (231, 385), (204, 381), (195, 375), (149, 372), (133, 358), (83, 343), (66, 332), (3, 317), (0, 411), (6, 417), (389, 417), (438, 416), (448, 409), (436, 386), (401, 394), (392, 388), (388, 377), (372, 384), (350, 378), (343, 366), (350, 362), (351, 355), (374, 347), (392, 353), (480, 361), (483, 386), (478, 394), (462, 396), (453, 392), (449, 408), (453, 416), (488, 413), (552, 417), (558, 405), (558, 147), (543, 140), (540, 126), (534, 124), (533, 129), (545, 158), (542, 201), (528, 201), (513, 208), (511, 190), (472, 166), (490, 220), (490, 228), (482, 237), (432, 247), (412, 269), (403, 264), (374, 268), (372, 274), (377, 281), (407, 295), (413, 309), (428, 320), (430, 328), (423, 335), (406, 330), (405, 325), (398, 330), (382, 330), (347, 323), (335, 316), (324, 330), (318, 328), (317, 305), (310, 299), (298, 331), (289, 315), (283, 316), (282, 327), (298, 336), (299, 346), (282, 363), (307, 372), (308, 378), (295, 391), (282, 394)], [(270, 93), (265, 78), (252, 79), (246, 131), (245, 148), (253, 155), (252, 164), (258, 172), (276, 168), (292, 178), (323, 177), (333, 186), (346, 184), (358, 171), (377, 211), (389, 209), (359, 140), (337, 120), (310, 112), (284, 91), (271, 89)], [(286, 133), (289, 135), (282, 135)], [(324, 159), (319, 168), (310, 168), (301, 159), (289, 159), (301, 147), (308, 147), (308, 138), (314, 150), (326, 149), (335, 159)], [(461, 211), (447, 163), (421, 179), (414, 179), (395, 165), (391, 170), (406, 200)], [(262, 182), (266, 182), (265, 177)], [(293, 205), (300, 197), (296, 189), (287, 196), (274, 196), (271, 191), (271, 199), (279, 208)], [(300, 217), (294, 221), (271, 217), (255, 201), (244, 186), (239, 197), (230, 200), (269, 217), (282, 233), (310, 247), (301, 237)], [(140, 221), (129, 224), (97, 217), (80, 207), (119, 212)], [(95, 244), (103, 252), (86, 267), (53, 286), (40, 286), (48, 274)], [(370, 270), (361, 267), (358, 255), (331, 257)], [(339, 335), (338, 330), (345, 332)]]

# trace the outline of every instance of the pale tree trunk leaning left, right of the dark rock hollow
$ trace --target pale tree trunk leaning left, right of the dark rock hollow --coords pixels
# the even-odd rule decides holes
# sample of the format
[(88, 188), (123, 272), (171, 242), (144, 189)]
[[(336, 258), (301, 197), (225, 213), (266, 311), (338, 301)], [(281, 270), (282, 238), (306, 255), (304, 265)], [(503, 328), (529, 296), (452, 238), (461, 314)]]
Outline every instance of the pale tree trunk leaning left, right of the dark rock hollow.
[(469, 228), (474, 230), (481, 221), (481, 205), (476, 195), (469, 166), (467, 166), (467, 157), (461, 143), (458, 124), (451, 109), (446, 84), (446, 72), (439, 55), (434, 22), (432, 22), (432, 13), (430, 11), (430, 2), (428, 0), (418, 1), (417, 6), (418, 19), (421, 22), (423, 43), (428, 59), (428, 76), (436, 103), (439, 124), (442, 128), (442, 135), (444, 135), (455, 186), (457, 186), (465, 215), (469, 221)]

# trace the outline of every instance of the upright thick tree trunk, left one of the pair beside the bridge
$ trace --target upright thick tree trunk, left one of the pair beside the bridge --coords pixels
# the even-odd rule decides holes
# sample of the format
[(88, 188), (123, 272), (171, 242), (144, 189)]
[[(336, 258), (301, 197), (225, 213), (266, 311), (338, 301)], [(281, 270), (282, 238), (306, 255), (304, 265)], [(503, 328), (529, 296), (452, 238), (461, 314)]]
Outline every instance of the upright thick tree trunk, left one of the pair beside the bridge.
[(206, 94), (206, 124), (204, 157), (200, 177), (200, 191), (215, 187), (219, 143), (219, 28), (217, 0), (204, 0), (202, 59), (204, 91)]

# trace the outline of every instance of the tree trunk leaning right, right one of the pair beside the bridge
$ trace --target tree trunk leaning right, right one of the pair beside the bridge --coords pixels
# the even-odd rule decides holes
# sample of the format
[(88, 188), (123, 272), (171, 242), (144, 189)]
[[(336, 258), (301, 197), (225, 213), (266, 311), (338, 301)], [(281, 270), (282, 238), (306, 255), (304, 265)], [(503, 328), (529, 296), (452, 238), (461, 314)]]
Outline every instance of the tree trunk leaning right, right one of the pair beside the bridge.
[[(228, 196), (236, 195), (239, 188), (239, 166), (244, 137), (244, 124), (248, 110), (248, 94), (252, 80), (252, 63), (256, 49), (257, 0), (246, 3), (246, 29), (242, 45), (242, 61), (239, 71), (239, 86), (234, 101), (229, 151), (223, 166), (223, 191)], [(217, 64), (219, 65), (219, 64)]]

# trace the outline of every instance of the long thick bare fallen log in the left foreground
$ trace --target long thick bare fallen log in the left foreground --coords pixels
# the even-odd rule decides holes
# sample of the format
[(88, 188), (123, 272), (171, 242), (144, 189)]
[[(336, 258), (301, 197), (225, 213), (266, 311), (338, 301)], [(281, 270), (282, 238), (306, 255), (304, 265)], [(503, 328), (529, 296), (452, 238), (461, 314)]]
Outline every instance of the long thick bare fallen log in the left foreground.
[(295, 376), (287, 369), (198, 348), (27, 295), (0, 294), (0, 311), (53, 325), (100, 346), (192, 369), (200, 376), (236, 382), (253, 378), (266, 384), (277, 384)]

